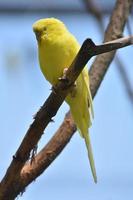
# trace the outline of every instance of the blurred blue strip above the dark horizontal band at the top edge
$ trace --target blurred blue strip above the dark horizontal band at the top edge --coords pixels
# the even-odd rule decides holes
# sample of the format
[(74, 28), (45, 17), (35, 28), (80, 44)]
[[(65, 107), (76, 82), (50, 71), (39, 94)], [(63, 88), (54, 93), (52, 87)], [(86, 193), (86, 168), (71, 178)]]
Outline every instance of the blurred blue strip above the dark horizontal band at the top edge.
[[(115, 0), (100, 0), (100, 4), (98, 0), (95, 0), (96, 4), (99, 5), (101, 8), (112, 8), (112, 6), (115, 3)], [(46, 9), (78, 9), (78, 10), (83, 10), (84, 9), (84, 3), (82, 0), (76, 0), (76, 1), (71, 1), (71, 0), (23, 0), (23, 1), (18, 1), (18, 0), (1, 0), (0, 1), (0, 9), (2, 8), (9, 8), (9, 9), (14, 9), (14, 8), (26, 8), (27, 10), (33, 9), (33, 8), (42, 8), (44, 10)]]

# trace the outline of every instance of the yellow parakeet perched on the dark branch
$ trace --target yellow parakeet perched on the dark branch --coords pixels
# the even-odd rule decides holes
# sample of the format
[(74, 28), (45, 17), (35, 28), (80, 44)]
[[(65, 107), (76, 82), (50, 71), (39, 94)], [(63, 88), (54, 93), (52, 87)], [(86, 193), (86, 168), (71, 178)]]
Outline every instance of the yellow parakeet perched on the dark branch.
[[(52, 84), (62, 77), (64, 69), (69, 67), (80, 49), (76, 38), (58, 19), (40, 19), (33, 24), (33, 31), (38, 42), (39, 62), (42, 73)], [(95, 164), (89, 138), (88, 128), (93, 115), (92, 98), (89, 88), (88, 70), (85, 67), (76, 80), (76, 86), (66, 97), (73, 119), (80, 135), (85, 139), (88, 157), (94, 181), (97, 182)]]

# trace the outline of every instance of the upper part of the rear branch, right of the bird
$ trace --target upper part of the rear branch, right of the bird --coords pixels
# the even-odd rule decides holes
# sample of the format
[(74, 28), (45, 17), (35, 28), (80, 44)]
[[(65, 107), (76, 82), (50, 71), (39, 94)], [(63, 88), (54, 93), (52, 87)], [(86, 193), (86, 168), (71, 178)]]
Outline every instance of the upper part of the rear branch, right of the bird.
[[(104, 42), (121, 37), (132, 5), (133, 0), (117, 0), (110, 22), (105, 31)], [(99, 88), (101, 84), (101, 77), (104, 78), (104, 75), (106, 74), (108, 66), (112, 62), (115, 53), (116, 51), (97, 56), (93, 62), (90, 69), (90, 83), (94, 82), (93, 85), (90, 85), (92, 94), (95, 95), (95, 91), (97, 91), (95, 88)], [(100, 66), (102, 69), (99, 70), (98, 66)]]

